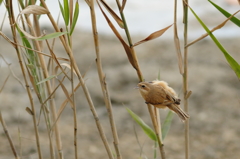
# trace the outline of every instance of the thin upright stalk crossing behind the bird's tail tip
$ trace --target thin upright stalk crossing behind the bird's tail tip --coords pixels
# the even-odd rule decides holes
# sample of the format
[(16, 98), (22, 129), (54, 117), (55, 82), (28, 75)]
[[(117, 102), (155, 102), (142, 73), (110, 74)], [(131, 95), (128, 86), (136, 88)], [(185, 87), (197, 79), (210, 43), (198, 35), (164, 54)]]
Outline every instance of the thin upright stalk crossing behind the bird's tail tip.
[[(184, 7), (184, 46), (188, 42), (188, 0), (183, 0)], [(184, 47), (183, 61), (183, 94), (184, 94), (184, 110), (188, 113), (188, 47)], [(189, 159), (189, 119), (185, 122), (185, 159)]]

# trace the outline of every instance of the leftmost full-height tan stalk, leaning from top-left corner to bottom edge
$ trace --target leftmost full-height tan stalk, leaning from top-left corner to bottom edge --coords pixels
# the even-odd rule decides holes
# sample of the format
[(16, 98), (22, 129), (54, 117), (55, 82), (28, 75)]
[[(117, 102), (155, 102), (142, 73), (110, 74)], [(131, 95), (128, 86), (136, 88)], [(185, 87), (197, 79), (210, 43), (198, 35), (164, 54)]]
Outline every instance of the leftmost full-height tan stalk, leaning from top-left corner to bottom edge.
[[(15, 17), (14, 17), (14, 12), (13, 12), (13, 7), (12, 7), (12, 0), (6, 0), (6, 8), (8, 10), (8, 14), (9, 14), (9, 21), (10, 21), (11, 31), (12, 31), (12, 34), (13, 34), (13, 41), (14, 41), (15, 44), (18, 44), (16, 28), (15, 28), (15, 25), (14, 25), (15, 24)], [(26, 84), (26, 90), (27, 90), (27, 93), (28, 93), (31, 109), (32, 109), (32, 112), (33, 112), (32, 119), (33, 119), (33, 125), (34, 125), (35, 137), (36, 137), (38, 158), (42, 159), (42, 152), (41, 152), (41, 146), (40, 146), (40, 139), (39, 139), (39, 133), (38, 133), (38, 127), (37, 127), (37, 119), (36, 119), (36, 111), (35, 111), (35, 106), (34, 106), (34, 103), (33, 103), (33, 97), (32, 97), (32, 93), (31, 93), (31, 90), (30, 90), (30, 86), (29, 86), (28, 81), (27, 81), (25, 68), (24, 68), (24, 65), (23, 65), (23, 62), (22, 62), (22, 56), (20, 54), (20, 50), (19, 50), (17, 45), (15, 45), (15, 50), (16, 50), (16, 53), (17, 53), (17, 56), (18, 56), (19, 65), (20, 65), (20, 68), (22, 70), (24, 82)]]

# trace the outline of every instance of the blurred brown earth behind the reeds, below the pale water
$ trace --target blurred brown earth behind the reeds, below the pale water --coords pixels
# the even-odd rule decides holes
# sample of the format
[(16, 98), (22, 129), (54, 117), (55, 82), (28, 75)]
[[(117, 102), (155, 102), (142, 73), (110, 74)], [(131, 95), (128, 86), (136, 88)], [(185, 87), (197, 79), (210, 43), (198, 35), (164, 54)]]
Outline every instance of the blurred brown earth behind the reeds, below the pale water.
[[(142, 37), (134, 37), (134, 41), (140, 39)], [(92, 35), (76, 33), (73, 39), (73, 52), (82, 74), (87, 71), (86, 83), (113, 150), (113, 139), (98, 81), (92, 41)], [(239, 39), (220, 39), (220, 41), (231, 55), (240, 61)], [(13, 71), (23, 82), (14, 49), (4, 39), (1, 39), (0, 45), (0, 54), (12, 63)], [(54, 52), (57, 56), (67, 57), (63, 50), (62, 46), (57, 44)], [(135, 128), (143, 147), (142, 155), (153, 158), (154, 142), (135, 124), (124, 107), (132, 109), (147, 124), (151, 125), (144, 100), (139, 92), (133, 89), (138, 83), (137, 74), (129, 64), (121, 44), (115, 37), (100, 35), (100, 51), (111, 95), (121, 154), (124, 159), (139, 158), (141, 148), (134, 134)], [(145, 80), (156, 79), (160, 71), (161, 79), (167, 81), (182, 99), (182, 76), (179, 74), (173, 40), (159, 38), (137, 46), (136, 52)], [(191, 158), (237, 159), (240, 156), (239, 80), (227, 64), (223, 54), (210, 39), (202, 40), (191, 46), (188, 55), (189, 90), (193, 92), (189, 98)], [(89, 68), (89, 66), (91, 67)], [(0, 69), (2, 85), (9, 70), (3, 62), (1, 62)], [(65, 85), (70, 88), (70, 83), (66, 82)], [(81, 89), (77, 92), (76, 97), (79, 158), (108, 158)], [(60, 89), (56, 95), (58, 108), (64, 99), (64, 94)], [(29, 99), (26, 91), (13, 76), (10, 76), (1, 92), (0, 101), (0, 109), (18, 153), (22, 154), (23, 159), (38, 158), (31, 116), (25, 111), (25, 107), (30, 107)], [(34, 96), (34, 101), (38, 103), (36, 96)], [(36, 106), (39, 107), (39, 104)], [(183, 107), (183, 104), (181, 106)], [(37, 112), (39, 113), (39, 110)], [(163, 121), (168, 111), (161, 110), (160, 112)], [(59, 127), (64, 156), (67, 159), (74, 158), (73, 113), (70, 106), (64, 110)], [(50, 158), (43, 117), (39, 125), (39, 132), (43, 157), (44, 159)], [(1, 126), (0, 142), (0, 159), (14, 158)], [(164, 144), (167, 158), (184, 158), (184, 124), (176, 115)]]

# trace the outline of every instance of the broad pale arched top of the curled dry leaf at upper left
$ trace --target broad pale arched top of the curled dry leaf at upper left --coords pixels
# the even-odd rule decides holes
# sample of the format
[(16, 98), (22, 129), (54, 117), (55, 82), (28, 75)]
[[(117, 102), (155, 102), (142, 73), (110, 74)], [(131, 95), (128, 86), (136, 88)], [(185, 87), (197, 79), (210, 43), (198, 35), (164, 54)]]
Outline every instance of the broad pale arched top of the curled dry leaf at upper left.
[(29, 5), (26, 8), (24, 8), (19, 14), (48, 14), (49, 11), (45, 9), (44, 7), (38, 6), (38, 5)]

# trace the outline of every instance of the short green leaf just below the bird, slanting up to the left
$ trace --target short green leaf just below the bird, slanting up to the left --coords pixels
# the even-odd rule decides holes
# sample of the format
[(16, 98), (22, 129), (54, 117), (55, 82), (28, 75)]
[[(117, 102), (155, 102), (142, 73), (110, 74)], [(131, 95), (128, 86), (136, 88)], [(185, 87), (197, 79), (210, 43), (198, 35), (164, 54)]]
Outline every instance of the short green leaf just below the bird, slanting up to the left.
[(155, 132), (135, 113), (133, 113), (129, 108), (126, 108), (128, 113), (132, 116), (132, 118), (138, 123), (138, 125), (143, 129), (146, 135), (154, 141), (157, 141), (157, 137)]

